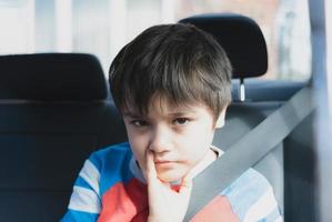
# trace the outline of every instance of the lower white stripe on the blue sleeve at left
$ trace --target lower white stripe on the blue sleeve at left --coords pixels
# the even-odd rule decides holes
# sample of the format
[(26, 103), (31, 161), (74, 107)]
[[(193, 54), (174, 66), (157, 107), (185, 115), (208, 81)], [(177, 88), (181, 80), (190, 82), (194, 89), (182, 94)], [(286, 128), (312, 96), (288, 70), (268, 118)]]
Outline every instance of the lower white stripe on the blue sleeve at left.
[(73, 186), (73, 192), (68, 206), (70, 210), (88, 213), (100, 213), (101, 203), (98, 195), (87, 188)]

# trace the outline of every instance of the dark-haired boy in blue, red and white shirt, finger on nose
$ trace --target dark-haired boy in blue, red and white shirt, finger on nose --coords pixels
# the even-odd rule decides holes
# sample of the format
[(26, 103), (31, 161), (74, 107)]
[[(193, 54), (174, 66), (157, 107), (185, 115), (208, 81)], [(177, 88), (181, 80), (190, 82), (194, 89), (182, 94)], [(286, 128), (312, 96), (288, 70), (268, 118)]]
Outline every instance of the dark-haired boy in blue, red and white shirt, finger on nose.
[[(192, 179), (222, 151), (211, 145), (231, 102), (231, 64), (190, 24), (149, 28), (110, 68), (129, 143), (92, 153), (62, 221), (183, 220)], [(281, 221), (272, 188), (250, 169), (192, 221)]]

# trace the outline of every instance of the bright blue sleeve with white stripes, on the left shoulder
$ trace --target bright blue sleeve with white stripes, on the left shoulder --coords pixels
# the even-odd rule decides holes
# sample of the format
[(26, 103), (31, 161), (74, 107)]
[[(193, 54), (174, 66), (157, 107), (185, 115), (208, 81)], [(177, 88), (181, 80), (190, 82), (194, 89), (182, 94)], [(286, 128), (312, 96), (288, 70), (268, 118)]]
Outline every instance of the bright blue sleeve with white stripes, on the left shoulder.
[(129, 143), (111, 145), (91, 153), (74, 182), (69, 211), (64, 218), (98, 215), (103, 193), (115, 183), (132, 178), (129, 170), (131, 157)]

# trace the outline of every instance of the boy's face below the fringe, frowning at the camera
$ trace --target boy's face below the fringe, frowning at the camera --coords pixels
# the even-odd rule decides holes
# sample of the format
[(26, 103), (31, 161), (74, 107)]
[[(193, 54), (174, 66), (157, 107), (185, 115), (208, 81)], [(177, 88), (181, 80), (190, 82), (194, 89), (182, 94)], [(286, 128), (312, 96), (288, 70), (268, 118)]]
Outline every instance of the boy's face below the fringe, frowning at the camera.
[(214, 118), (201, 103), (174, 107), (157, 97), (145, 115), (124, 110), (123, 118), (129, 143), (143, 174), (148, 150), (153, 152), (158, 178), (164, 182), (182, 179), (210, 151)]

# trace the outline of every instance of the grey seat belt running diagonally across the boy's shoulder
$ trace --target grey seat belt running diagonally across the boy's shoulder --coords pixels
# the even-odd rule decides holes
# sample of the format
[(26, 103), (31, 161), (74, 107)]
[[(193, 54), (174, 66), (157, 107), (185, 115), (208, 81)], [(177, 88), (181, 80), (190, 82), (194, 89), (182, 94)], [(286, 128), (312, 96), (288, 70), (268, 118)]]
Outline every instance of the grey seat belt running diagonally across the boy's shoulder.
[(311, 91), (310, 85), (301, 89), (193, 179), (185, 222), (273, 150), (314, 110)]

